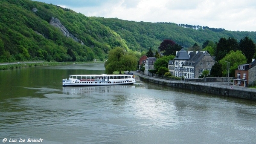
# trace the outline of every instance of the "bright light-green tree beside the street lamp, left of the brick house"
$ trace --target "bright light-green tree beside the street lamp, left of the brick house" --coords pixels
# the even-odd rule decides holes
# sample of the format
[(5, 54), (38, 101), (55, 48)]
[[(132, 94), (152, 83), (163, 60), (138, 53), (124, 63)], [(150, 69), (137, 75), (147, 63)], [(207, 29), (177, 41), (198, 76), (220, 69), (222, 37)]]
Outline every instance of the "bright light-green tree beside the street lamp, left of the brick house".
[(239, 64), (246, 63), (246, 57), (242, 54), (241, 51), (234, 52), (230, 51), (223, 59), (219, 61), (221, 63), (221, 71), (222, 76), (225, 77), (227, 75), (227, 62), (230, 62), (230, 77), (235, 76), (235, 70), (238, 68)]

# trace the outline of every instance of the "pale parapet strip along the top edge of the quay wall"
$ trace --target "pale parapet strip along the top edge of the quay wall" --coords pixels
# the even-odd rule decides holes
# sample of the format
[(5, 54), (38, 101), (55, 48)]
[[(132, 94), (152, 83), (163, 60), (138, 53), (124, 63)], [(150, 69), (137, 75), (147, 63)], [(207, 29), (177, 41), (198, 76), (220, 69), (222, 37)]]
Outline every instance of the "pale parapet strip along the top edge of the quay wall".
[(247, 87), (241, 87), (241, 86), (233, 86), (233, 85), (223, 85), (223, 84), (211, 84), (211, 83), (200, 83), (200, 82), (192, 82), (192, 81), (182, 81), (182, 80), (169, 80), (169, 79), (163, 79), (163, 78), (156, 78), (156, 77), (150, 77), (146, 75), (137, 75), (140, 78), (148, 78), (155, 81), (161, 81), (165, 83), (183, 83), (183, 84), (193, 84), (198, 86), (209, 86), (209, 87), (217, 87), (222, 89), (234, 89), (239, 91), (246, 91), (246, 92), (256, 92), (256, 89), (253, 88), (247, 88)]

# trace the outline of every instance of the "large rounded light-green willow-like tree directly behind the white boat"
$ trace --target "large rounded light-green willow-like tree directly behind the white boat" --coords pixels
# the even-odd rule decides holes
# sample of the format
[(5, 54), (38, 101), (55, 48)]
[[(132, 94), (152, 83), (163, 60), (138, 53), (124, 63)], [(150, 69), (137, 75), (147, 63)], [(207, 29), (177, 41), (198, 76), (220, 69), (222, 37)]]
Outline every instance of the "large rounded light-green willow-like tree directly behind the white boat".
[(105, 71), (112, 74), (114, 71), (136, 70), (137, 59), (134, 54), (127, 53), (121, 47), (115, 47), (109, 51), (108, 60), (105, 62)]

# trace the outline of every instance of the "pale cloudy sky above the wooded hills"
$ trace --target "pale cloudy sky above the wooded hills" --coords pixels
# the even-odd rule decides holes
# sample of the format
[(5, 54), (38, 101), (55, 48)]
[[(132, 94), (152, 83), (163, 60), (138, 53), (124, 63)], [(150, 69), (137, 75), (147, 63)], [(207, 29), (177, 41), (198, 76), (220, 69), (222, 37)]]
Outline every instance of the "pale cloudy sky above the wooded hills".
[(256, 0), (36, 0), (85, 16), (256, 31)]

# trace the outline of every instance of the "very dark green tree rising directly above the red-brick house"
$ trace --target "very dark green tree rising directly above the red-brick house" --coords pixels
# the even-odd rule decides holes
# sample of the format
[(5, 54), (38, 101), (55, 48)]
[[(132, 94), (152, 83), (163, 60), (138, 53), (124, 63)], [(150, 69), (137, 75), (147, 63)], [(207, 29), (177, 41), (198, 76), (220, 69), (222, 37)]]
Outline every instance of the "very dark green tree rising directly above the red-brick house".
[(243, 39), (240, 40), (239, 46), (240, 50), (247, 58), (247, 63), (250, 63), (256, 52), (256, 46), (253, 43), (253, 40), (245, 36)]

